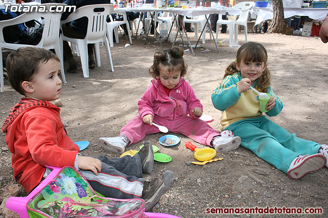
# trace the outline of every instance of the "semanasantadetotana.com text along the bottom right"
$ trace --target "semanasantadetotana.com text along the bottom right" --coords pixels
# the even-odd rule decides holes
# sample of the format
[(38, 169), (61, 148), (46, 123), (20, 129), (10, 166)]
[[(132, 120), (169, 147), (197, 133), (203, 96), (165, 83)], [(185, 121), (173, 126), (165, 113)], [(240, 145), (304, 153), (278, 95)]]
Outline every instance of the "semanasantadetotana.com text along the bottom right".
[(218, 214), (322, 214), (322, 208), (289, 208), (289, 207), (251, 207), (251, 208), (206, 208), (206, 213)]

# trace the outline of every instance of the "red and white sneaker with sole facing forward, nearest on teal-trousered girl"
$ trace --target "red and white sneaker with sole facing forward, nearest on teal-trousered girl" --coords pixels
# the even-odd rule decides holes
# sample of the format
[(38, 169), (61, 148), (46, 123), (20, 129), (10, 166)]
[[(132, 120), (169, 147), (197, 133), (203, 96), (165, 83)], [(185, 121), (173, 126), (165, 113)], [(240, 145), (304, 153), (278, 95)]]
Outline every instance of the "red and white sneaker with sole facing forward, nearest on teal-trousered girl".
[(326, 162), (322, 154), (299, 155), (292, 161), (287, 174), (291, 179), (300, 179), (305, 174), (321, 169)]

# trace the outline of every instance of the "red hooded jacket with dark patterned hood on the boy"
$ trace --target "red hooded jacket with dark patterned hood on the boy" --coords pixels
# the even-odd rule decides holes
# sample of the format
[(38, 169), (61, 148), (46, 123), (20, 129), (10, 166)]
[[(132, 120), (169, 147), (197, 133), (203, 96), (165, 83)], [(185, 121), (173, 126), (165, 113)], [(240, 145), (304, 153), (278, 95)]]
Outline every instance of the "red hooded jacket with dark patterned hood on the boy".
[(15, 180), (27, 192), (42, 180), (45, 165), (74, 167), (78, 146), (66, 134), (60, 109), (50, 102), (23, 98), (10, 110), (2, 130)]

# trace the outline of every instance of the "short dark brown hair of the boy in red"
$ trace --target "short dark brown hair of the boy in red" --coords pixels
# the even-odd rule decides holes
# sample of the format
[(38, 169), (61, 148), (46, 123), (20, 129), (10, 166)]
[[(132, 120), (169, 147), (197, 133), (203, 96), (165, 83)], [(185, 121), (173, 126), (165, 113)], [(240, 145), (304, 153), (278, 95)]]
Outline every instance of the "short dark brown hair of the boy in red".
[(31, 81), (40, 63), (47, 63), (50, 59), (60, 61), (49, 50), (39, 47), (20, 47), (12, 51), (6, 60), (6, 69), (10, 85), (24, 95), (22, 83)]

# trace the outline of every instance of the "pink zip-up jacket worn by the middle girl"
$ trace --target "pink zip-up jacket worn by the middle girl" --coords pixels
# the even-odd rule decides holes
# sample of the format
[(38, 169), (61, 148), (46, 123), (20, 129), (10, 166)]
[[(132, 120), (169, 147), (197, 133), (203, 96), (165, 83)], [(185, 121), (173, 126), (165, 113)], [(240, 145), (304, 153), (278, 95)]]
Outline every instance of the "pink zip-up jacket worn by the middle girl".
[(157, 115), (168, 120), (188, 114), (192, 118), (197, 118), (192, 110), (195, 107), (203, 109), (194, 90), (185, 79), (180, 78), (179, 83), (170, 91), (169, 96), (159, 80), (153, 79), (151, 82), (152, 84), (142, 94), (138, 102), (141, 119), (147, 114), (152, 114), (153, 117)]

